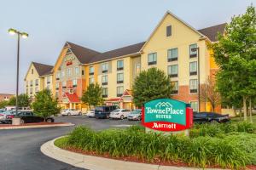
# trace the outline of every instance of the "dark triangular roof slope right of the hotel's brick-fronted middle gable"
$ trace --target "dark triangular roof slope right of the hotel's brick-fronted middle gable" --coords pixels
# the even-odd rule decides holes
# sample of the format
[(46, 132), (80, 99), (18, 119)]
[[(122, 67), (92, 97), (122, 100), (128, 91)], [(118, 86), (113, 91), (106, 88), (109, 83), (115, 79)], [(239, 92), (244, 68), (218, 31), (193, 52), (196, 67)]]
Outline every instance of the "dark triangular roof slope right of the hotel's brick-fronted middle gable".
[(96, 54), (101, 54), (95, 50), (90, 48), (84, 48), (72, 42), (67, 42), (70, 49), (72, 50), (73, 54), (79, 59), (82, 64), (88, 64), (90, 59), (95, 56)]

